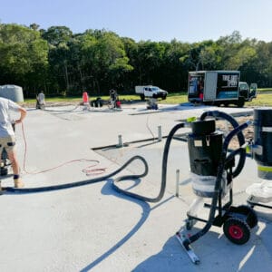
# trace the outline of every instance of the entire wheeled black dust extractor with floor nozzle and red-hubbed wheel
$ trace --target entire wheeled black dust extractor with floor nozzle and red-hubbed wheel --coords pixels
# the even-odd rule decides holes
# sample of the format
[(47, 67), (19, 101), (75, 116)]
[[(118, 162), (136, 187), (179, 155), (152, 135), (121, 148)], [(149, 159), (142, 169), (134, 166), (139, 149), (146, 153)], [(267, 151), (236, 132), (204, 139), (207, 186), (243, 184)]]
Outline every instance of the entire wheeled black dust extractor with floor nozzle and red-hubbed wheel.
[[(230, 122), (234, 129), (224, 139), (223, 133), (216, 131), (215, 119), (207, 119), (209, 116)], [(176, 237), (195, 264), (199, 263), (199, 257), (195, 255), (190, 244), (205, 235), (211, 226), (223, 226), (225, 236), (238, 245), (247, 243), (250, 229), (257, 226), (257, 215), (253, 209), (246, 205), (232, 206), (233, 179), (243, 169), (246, 160), (246, 144), (242, 131), (249, 124), (248, 121), (238, 125), (233, 117), (224, 112), (205, 112), (199, 121), (191, 123), (192, 132), (188, 135), (189, 163), (192, 189), (197, 199), (187, 213), (187, 229), (181, 228)], [(238, 136), (240, 147), (236, 151), (228, 152), (228, 144), (234, 136)], [(204, 203), (204, 199), (210, 199), (209, 204)], [(208, 219), (199, 218), (201, 206), (209, 208)], [(197, 221), (205, 222), (205, 227), (188, 236), (186, 230), (191, 229)]]

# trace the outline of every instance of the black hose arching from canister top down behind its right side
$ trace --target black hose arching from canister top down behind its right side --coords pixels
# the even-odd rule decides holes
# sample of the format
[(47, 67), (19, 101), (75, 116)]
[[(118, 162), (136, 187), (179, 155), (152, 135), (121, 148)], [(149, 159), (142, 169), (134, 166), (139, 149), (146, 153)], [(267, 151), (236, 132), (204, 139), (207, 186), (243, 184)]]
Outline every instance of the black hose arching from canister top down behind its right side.
[[(206, 119), (209, 116), (228, 121), (232, 125), (233, 129), (237, 128), (238, 125), (239, 125), (238, 121), (236, 121), (231, 115), (229, 115), (228, 113), (219, 112), (219, 111), (204, 112), (200, 116), (200, 120), (204, 120), (204, 119)], [(245, 137), (244, 137), (244, 134), (242, 133), (242, 131), (238, 131), (237, 137), (238, 137), (239, 146), (241, 147), (242, 145), (245, 144)], [(238, 177), (238, 175), (241, 172), (241, 170), (243, 170), (245, 162), (246, 162), (246, 157), (247, 157), (246, 150), (240, 149), (239, 150), (238, 165), (237, 165), (237, 167), (232, 172), (233, 178)]]

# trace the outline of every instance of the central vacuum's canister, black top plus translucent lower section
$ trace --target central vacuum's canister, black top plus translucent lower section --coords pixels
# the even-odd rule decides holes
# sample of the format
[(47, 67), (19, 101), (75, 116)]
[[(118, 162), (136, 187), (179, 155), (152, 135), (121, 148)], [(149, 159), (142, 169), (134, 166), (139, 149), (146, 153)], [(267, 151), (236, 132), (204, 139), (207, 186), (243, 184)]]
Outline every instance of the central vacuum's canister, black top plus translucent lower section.
[[(199, 197), (212, 198), (223, 148), (223, 133), (216, 131), (215, 120), (191, 122), (188, 135), (192, 188)], [(226, 175), (222, 188), (226, 191)], [(224, 194), (224, 192), (223, 192)]]

